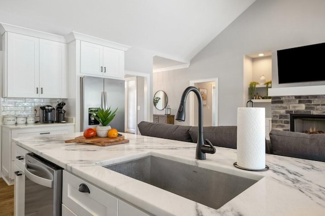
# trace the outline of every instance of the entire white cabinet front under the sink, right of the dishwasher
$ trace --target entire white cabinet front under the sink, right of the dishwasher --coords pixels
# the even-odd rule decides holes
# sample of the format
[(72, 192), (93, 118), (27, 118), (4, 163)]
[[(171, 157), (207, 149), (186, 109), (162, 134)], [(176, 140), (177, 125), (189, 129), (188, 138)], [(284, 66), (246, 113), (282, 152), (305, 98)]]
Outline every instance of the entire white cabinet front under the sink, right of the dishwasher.
[(145, 216), (150, 214), (63, 170), (62, 216), (67, 215)]

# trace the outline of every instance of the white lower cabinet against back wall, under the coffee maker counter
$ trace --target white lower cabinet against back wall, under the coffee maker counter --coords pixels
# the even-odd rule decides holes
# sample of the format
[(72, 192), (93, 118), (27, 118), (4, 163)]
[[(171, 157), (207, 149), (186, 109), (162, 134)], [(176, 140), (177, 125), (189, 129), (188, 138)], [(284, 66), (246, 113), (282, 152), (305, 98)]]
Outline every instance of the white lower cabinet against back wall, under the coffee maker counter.
[(10, 128), (2, 126), (2, 178), (8, 185), (13, 185), (15, 181), (14, 161), (15, 161), (15, 143), (13, 138), (42, 136), (50, 134), (68, 134), (74, 133), (74, 125), (44, 126), (44, 127), (26, 127)]

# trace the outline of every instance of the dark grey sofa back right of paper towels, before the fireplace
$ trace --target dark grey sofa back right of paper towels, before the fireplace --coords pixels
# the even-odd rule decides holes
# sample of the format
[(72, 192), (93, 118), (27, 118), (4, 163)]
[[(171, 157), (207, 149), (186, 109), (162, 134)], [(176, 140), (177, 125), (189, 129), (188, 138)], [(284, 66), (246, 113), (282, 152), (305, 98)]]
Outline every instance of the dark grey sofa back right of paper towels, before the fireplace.
[(325, 135), (300, 132), (270, 132), (273, 154), (325, 162)]

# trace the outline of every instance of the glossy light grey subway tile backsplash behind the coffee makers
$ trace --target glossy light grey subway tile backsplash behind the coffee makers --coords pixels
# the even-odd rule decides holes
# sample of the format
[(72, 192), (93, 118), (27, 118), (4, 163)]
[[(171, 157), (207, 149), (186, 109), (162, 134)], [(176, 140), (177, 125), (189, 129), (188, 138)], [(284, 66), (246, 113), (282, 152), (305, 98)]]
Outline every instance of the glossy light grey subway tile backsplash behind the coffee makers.
[[(1, 119), (4, 115), (39, 115), (38, 106), (51, 105), (56, 106), (57, 101), (61, 99), (44, 99), (44, 98), (1, 98)], [(37, 113), (35, 113), (37, 109)]]

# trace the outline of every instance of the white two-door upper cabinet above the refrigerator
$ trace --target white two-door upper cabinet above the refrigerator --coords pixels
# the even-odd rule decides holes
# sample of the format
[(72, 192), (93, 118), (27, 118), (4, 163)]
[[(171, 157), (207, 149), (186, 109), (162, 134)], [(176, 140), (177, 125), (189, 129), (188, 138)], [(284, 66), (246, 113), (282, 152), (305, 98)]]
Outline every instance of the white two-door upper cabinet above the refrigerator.
[(81, 41), (80, 73), (124, 78), (124, 51)]

